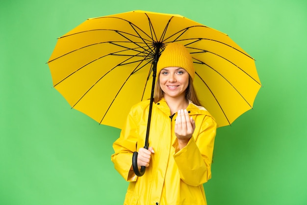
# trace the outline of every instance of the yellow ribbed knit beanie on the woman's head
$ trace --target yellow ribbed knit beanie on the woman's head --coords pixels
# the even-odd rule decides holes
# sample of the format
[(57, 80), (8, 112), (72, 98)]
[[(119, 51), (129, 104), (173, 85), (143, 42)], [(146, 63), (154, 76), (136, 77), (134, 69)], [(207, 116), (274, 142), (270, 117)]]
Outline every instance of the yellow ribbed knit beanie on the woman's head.
[(167, 67), (183, 68), (194, 79), (195, 70), (192, 56), (182, 44), (174, 42), (166, 46), (157, 63), (157, 77), (161, 70)]

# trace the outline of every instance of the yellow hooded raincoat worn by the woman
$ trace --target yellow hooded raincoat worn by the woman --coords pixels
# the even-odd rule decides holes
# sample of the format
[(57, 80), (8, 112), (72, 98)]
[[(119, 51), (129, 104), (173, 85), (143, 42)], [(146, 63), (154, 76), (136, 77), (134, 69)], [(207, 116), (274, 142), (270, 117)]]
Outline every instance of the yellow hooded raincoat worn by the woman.
[(205, 108), (189, 103), (187, 110), (196, 128), (186, 147), (178, 150), (175, 119), (164, 99), (153, 103), (149, 147), (150, 166), (142, 177), (133, 170), (132, 154), (144, 147), (149, 100), (134, 105), (114, 142), (115, 169), (130, 181), (124, 205), (206, 205), (203, 183), (211, 178), (216, 122)]

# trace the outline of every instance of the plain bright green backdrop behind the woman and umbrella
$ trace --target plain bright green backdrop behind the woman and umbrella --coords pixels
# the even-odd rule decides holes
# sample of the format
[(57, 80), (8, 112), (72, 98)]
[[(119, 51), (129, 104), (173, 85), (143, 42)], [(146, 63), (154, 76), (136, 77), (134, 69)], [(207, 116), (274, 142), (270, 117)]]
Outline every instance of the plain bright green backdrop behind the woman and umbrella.
[(307, 205), (306, 0), (1, 0), (0, 205), (123, 204), (120, 130), (71, 109), (46, 62), (87, 18), (132, 10), (218, 29), (256, 59), (263, 87), (218, 129), (208, 205)]

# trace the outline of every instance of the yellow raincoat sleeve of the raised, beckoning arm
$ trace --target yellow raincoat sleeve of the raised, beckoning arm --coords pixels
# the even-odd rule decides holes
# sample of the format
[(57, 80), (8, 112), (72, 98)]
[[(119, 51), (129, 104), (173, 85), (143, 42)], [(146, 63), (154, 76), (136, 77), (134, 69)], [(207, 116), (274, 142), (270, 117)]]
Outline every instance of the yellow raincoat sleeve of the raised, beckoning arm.
[[(206, 116), (198, 136), (192, 136), (188, 144), (175, 151), (174, 159), (180, 179), (191, 186), (198, 186), (211, 178), (211, 163), (216, 135), (216, 123)], [(174, 147), (178, 146), (178, 141)]]

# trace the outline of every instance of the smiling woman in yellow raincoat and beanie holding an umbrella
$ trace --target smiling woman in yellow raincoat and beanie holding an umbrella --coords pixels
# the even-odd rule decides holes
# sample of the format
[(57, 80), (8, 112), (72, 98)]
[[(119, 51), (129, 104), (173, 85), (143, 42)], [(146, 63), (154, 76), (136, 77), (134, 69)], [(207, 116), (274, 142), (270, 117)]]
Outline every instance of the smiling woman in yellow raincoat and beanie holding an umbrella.
[[(206, 205), (203, 183), (211, 178), (216, 123), (197, 100), (194, 75), (187, 49), (169, 44), (157, 63), (148, 150), (142, 147), (150, 101), (131, 108), (111, 156), (130, 182), (125, 205)], [(147, 167), (142, 177), (132, 169), (135, 151), (138, 167)]]

